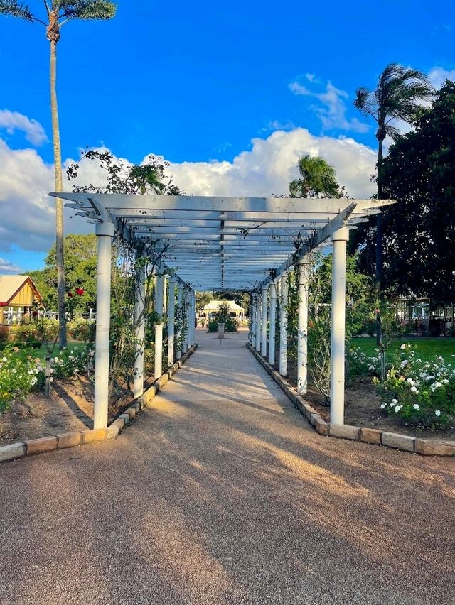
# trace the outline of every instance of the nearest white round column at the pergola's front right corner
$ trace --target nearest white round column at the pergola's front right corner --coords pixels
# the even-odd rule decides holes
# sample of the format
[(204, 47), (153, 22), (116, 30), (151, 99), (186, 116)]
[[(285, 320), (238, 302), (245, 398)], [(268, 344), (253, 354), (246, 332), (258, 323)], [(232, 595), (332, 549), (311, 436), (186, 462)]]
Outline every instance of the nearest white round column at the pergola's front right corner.
[(346, 243), (349, 229), (332, 234), (332, 326), (330, 358), (330, 421), (344, 424), (344, 343), (346, 320)]

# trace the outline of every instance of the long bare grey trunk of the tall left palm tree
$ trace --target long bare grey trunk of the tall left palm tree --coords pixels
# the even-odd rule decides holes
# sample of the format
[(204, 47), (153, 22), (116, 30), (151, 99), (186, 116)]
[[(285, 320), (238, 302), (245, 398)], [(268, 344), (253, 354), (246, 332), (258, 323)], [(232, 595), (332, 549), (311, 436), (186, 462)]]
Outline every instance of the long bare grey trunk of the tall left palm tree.
[[(55, 165), (55, 191), (63, 191), (62, 153), (60, 149), (60, 129), (58, 126), (57, 91), (57, 43), (50, 40), (50, 113), (52, 116), (52, 136)], [(58, 322), (60, 325), (60, 348), (66, 347), (65, 317), (65, 267), (63, 261), (63, 200), (55, 198), (55, 252), (57, 258)]]

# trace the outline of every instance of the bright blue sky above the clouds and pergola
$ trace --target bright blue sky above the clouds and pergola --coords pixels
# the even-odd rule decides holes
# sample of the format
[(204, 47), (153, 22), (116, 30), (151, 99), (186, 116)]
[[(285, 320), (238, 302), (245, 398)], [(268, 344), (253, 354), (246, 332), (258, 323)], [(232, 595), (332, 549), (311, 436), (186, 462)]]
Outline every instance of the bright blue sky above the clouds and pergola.
[[(31, 0), (30, 6), (43, 13), (41, 1)], [(265, 157), (259, 151), (270, 148), (269, 137), (276, 152), (277, 145), (289, 145), (291, 133), (303, 136), (296, 129), (309, 133), (301, 152), (348, 137), (363, 146), (351, 143), (350, 151), (355, 147), (366, 157), (375, 148), (374, 128), (352, 107), (355, 88), (373, 87), (392, 61), (450, 73), (455, 68), (454, 28), (455, 4), (445, 0), (311, 6), (289, 0), (176, 1), (166, 6), (120, 0), (112, 21), (72, 22), (63, 28), (58, 44), (63, 159), (77, 158), (86, 145), (107, 146), (132, 162), (156, 153), (176, 165), (187, 192), (194, 192), (188, 186), (198, 189), (200, 163), (218, 160), (218, 168), (229, 171), (226, 162), (237, 169), (239, 161), (249, 158), (242, 170), (254, 170), (250, 160)], [(0, 114), (5, 154), (0, 157), (15, 158), (9, 178), (11, 170), (18, 170), (16, 178), (23, 180), (27, 166), (39, 170), (40, 161), (49, 175), (48, 42), (39, 24), (0, 17), (0, 110), (38, 122), (21, 122), (14, 114), (14, 127), (8, 128), (4, 117), (2, 128)], [(277, 131), (288, 136), (280, 139)], [(257, 139), (265, 142), (255, 143)], [(27, 148), (33, 150), (30, 157), (16, 162), (18, 152)], [(343, 176), (338, 156), (333, 163)], [(190, 178), (188, 170), (195, 166)], [(31, 186), (45, 187), (40, 179), (33, 176)], [(242, 175), (239, 188), (246, 179)], [(348, 176), (346, 182), (355, 190)], [(210, 183), (205, 185), (211, 191)], [(269, 195), (277, 192), (284, 191)], [(15, 195), (2, 197), (0, 191), (6, 212), (14, 212)], [(1, 216), (4, 212), (2, 208)], [(51, 224), (51, 214), (46, 222)], [(14, 233), (4, 236), (0, 227), (0, 257), (20, 268), (40, 266), (51, 241), (45, 228), (40, 227), (41, 238), (20, 223), (9, 229)]]

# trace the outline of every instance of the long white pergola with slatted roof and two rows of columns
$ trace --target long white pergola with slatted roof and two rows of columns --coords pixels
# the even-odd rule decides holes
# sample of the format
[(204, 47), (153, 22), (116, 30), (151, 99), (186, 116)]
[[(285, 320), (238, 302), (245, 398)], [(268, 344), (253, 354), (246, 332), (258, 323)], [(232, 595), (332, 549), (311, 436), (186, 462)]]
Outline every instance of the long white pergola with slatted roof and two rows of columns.
[[(168, 274), (168, 359), (171, 366), (194, 344), (196, 290), (250, 290), (252, 346), (275, 362), (277, 295), (281, 302), (279, 373), (287, 375), (287, 272), (299, 269), (297, 388), (307, 386), (308, 271), (311, 251), (333, 246), (331, 315), (331, 423), (344, 423), (346, 244), (350, 229), (394, 200), (334, 200), (274, 197), (192, 197), (97, 193), (51, 193), (96, 225), (98, 236), (95, 342), (95, 428), (107, 426), (112, 237), (158, 261), (156, 311), (164, 312)], [(143, 316), (144, 278), (137, 283), (137, 317)], [(188, 302), (188, 334), (174, 346), (174, 301)], [(267, 325), (269, 337), (267, 339)], [(144, 322), (137, 328), (134, 396), (144, 392)], [(155, 377), (161, 376), (163, 323), (156, 325)], [(268, 344), (268, 347), (267, 347)], [(140, 347), (140, 345), (139, 345)]]

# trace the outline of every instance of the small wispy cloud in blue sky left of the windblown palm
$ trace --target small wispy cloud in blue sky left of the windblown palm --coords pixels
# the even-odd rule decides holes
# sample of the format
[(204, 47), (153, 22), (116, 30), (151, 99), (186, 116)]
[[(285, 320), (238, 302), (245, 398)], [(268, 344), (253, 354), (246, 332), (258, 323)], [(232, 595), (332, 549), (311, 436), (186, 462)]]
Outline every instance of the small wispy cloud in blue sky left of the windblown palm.
[[(317, 82), (313, 74), (306, 74), (306, 79), (309, 82)], [(293, 94), (312, 97), (318, 99), (321, 103), (312, 107), (319, 119), (321, 119), (324, 130), (346, 130), (353, 132), (367, 132), (370, 129), (368, 124), (361, 122), (357, 118), (346, 117), (346, 99), (349, 95), (346, 91), (333, 86), (331, 82), (327, 82), (325, 92), (313, 92), (302, 86), (299, 82), (294, 81), (289, 84), (289, 90)]]

